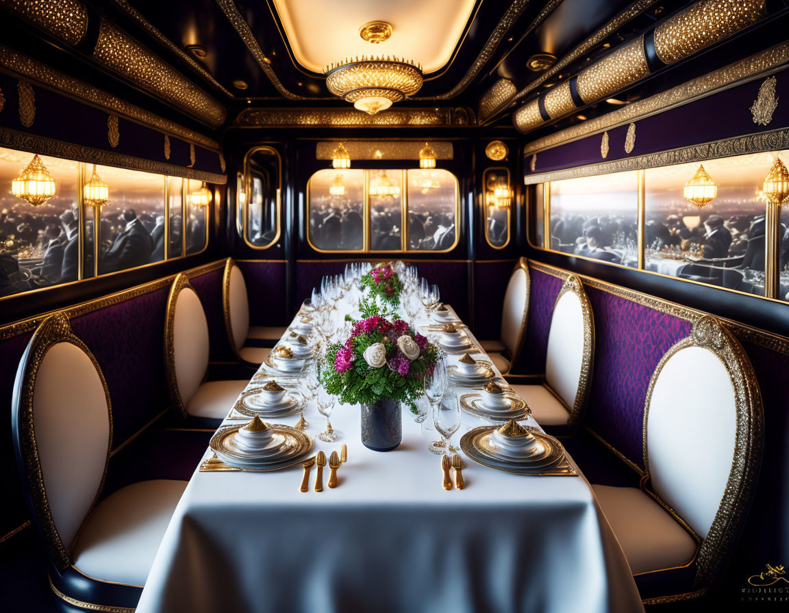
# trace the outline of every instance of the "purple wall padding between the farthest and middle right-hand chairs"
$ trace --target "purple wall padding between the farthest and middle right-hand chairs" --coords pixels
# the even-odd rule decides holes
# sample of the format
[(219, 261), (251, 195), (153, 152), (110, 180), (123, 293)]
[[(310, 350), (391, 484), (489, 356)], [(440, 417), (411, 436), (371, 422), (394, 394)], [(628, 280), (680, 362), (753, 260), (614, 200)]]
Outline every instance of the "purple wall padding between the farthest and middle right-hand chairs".
[(542, 374), (545, 372), (545, 353), (548, 351), (548, 331), (551, 328), (553, 305), (564, 281), (529, 266), (531, 290), (529, 293), (529, 316), (526, 318), (526, 338), (514, 367), (520, 374)]

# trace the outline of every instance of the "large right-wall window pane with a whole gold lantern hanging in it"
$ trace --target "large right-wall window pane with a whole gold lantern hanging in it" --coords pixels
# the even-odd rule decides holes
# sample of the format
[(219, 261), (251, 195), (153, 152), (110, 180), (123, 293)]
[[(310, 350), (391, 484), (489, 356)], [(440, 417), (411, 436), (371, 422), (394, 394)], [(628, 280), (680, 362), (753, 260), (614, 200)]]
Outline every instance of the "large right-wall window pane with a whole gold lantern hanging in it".
[(697, 204), (684, 191), (701, 164), (647, 169), (645, 269), (764, 295), (765, 201), (757, 189), (771, 165), (770, 153), (706, 160), (702, 172), (716, 194), (709, 202), (700, 194)]

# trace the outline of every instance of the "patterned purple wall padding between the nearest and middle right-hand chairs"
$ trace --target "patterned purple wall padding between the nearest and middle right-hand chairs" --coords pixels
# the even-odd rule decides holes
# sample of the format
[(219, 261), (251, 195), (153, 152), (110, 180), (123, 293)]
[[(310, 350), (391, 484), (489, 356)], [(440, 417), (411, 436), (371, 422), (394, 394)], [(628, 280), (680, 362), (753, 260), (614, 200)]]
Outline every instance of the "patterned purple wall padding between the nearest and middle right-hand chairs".
[(595, 323), (592, 388), (585, 424), (643, 468), (644, 401), (668, 349), (690, 334), (690, 321), (585, 286)]

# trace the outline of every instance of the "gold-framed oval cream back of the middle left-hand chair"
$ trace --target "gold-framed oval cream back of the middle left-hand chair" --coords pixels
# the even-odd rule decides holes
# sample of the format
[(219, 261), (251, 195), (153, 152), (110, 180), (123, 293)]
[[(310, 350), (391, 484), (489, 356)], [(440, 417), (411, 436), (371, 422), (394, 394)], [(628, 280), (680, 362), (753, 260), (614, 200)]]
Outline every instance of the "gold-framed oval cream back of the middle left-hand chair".
[(173, 402), (186, 414), (208, 371), (208, 320), (203, 303), (183, 273), (167, 299), (166, 366)]

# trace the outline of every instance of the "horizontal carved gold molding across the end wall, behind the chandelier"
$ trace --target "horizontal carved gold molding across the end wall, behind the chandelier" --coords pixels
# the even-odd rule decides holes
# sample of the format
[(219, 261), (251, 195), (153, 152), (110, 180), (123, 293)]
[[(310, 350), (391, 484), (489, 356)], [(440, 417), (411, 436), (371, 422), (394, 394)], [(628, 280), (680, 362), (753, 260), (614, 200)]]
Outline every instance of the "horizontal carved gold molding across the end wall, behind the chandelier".
[(470, 126), (476, 124), (474, 114), (465, 107), (456, 109), (389, 109), (386, 113), (368, 115), (355, 109), (245, 109), (236, 118), (241, 128), (349, 128), (391, 127), (421, 128), (424, 126)]

